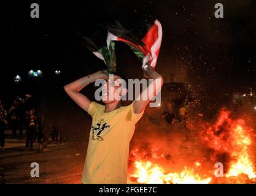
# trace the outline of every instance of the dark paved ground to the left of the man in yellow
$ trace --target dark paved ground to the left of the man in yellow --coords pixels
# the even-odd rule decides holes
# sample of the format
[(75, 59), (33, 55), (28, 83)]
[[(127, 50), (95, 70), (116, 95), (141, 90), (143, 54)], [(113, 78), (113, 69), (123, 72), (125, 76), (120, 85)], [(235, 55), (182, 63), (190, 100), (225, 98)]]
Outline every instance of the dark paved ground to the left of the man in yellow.
[[(23, 152), (25, 138), (12, 138), (6, 131), (6, 151), (0, 153), (0, 184), (2, 183), (79, 183), (85, 160), (85, 144), (80, 142), (49, 145), (49, 151)], [(39, 164), (39, 178), (31, 178), (32, 162)]]

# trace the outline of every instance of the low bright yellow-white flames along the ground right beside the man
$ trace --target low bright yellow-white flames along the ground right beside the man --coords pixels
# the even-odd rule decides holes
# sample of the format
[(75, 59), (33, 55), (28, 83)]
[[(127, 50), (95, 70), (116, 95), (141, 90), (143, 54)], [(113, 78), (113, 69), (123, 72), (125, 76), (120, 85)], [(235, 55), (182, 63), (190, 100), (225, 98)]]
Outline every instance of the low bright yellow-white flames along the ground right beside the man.
[[(198, 163), (197, 163), (198, 164)], [(138, 178), (138, 183), (149, 184), (208, 184), (212, 178), (201, 178), (193, 168), (185, 167), (180, 173), (167, 173), (157, 164), (147, 161), (136, 161), (136, 173), (131, 175)], [(200, 166), (200, 165), (198, 165)]]

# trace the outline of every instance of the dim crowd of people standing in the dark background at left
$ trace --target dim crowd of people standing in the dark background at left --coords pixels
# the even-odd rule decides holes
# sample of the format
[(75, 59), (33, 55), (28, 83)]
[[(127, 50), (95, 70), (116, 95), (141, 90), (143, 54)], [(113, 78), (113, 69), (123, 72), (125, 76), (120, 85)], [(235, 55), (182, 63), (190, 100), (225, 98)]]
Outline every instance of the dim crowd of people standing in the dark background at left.
[[(32, 151), (35, 142), (39, 143), (40, 151), (48, 151), (48, 143), (58, 144), (68, 140), (66, 127), (58, 123), (59, 121), (52, 121), (44, 110), (37, 110), (37, 105), (31, 94), (15, 97), (9, 109), (4, 107), (0, 100), (1, 152), (6, 150), (5, 131), (7, 129), (12, 130), (13, 138), (26, 137), (24, 151)], [(51, 141), (49, 141), (49, 135), (52, 136)]]

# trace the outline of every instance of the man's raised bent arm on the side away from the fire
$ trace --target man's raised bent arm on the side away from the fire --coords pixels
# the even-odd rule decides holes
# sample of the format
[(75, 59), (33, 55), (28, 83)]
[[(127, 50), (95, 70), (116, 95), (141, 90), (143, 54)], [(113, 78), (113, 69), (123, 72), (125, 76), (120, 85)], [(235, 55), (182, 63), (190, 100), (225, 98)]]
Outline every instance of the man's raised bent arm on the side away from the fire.
[(89, 85), (90, 83), (96, 81), (97, 79), (107, 79), (106, 71), (100, 70), (95, 74), (87, 75), (76, 81), (73, 81), (72, 83), (65, 85), (64, 90), (66, 91), (68, 96), (71, 97), (74, 102), (76, 102), (77, 105), (79, 105), (81, 108), (83, 108), (83, 110), (88, 112), (88, 107), (91, 104), (91, 101), (90, 99), (88, 99), (87, 96), (84, 96), (79, 91), (85, 88), (85, 86)]

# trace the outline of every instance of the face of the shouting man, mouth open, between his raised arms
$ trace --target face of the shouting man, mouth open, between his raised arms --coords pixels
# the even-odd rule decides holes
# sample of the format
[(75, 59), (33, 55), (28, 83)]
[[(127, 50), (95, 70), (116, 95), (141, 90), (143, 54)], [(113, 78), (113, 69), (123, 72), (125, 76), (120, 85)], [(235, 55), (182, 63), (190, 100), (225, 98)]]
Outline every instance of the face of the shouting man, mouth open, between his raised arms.
[(112, 78), (108, 78), (103, 86), (102, 100), (104, 104), (111, 104), (120, 101), (122, 97), (121, 92), (121, 77), (114, 75)]

